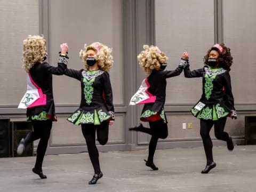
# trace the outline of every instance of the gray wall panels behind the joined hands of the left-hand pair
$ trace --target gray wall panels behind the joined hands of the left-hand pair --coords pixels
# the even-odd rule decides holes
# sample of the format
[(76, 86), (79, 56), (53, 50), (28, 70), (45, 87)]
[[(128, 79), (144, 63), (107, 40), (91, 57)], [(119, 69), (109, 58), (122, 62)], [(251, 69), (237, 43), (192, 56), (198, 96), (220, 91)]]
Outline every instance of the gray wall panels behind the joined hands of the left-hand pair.
[[(99, 6), (100, 5), (100, 6)], [(97, 7), (95, 12), (92, 7)], [(69, 0), (49, 1), (49, 49), (51, 63), (57, 63), (59, 45), (66, 42), (69, 45), (69, 68), (84, 68), (78, 53), (84, 44), (101, 42), (113, 47), (114, 67), (110, 71), (110, 80), (115, 95), (116, 107), (124, 105), (124, 67), (123, 67), (123, 24), (122, 1), (83, 1), (76, 3)], [(67, 14), (69, 12), (69, 14)], [(71, 15), (71, 17), (70, 17)], [(45, 26), (47, 27), (47, 26)], [(54, 57), (55, 56), (55, 57)], [(85, 145), (81, 127), (66, 121), (81, 100), (81, 84), (70, 77), (55, 76), (54, 98), (63, 117), (54, 124), (51, 146)], [(63, 109), (65, 107), (66, 109)], [(110, 127), (109, 144), (124, 143), (124, 114), (116, 114), (116, 122)], [(67, 137), (68, 136), (68, 137)]]

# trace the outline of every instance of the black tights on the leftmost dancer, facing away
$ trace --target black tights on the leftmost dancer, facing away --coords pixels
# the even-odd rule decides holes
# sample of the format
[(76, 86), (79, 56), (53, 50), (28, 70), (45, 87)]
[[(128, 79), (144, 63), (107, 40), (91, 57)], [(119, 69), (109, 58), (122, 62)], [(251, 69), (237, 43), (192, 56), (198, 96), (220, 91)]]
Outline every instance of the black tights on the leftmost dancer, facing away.
[(27, 134), (25, 145), (40, 139), (36, 150), (35, 167), (38, 171), (42, 171), (44, 155), (51, 134), (52, 121), (33, 121), (32, 124), (34, 131)]

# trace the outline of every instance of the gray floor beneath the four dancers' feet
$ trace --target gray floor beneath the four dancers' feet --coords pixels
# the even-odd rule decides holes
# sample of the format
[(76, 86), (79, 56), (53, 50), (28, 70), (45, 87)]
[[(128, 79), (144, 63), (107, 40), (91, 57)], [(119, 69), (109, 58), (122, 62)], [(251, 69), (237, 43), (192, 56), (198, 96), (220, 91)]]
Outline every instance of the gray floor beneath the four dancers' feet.
[(202, 147), (157, 150), (151, 171), (143, 158), (147, 150), (100, 153), (104, 174), (97, 185), (89, 186), (92, 167), (87, 153), (45, 157), (47, 179), (31, 172), (35, 157), (0, 158), (0, 191), (256, 191), (256, 146), (238, 146), (229, 152), (214, 147), (217, 167), (201, 174), (205, 166)]

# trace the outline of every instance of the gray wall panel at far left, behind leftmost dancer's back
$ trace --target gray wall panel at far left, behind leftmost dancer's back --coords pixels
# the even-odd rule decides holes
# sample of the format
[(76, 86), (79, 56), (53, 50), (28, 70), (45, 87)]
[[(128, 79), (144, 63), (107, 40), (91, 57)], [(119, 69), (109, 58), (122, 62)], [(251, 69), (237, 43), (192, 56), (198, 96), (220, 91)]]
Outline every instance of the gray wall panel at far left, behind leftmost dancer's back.
[[(38, 1), (0, 1), (0, 105), (18, 105), (26, 90), (22, 40), (39, 32)], [(4, 111), (3, 111), (4, 112)]]

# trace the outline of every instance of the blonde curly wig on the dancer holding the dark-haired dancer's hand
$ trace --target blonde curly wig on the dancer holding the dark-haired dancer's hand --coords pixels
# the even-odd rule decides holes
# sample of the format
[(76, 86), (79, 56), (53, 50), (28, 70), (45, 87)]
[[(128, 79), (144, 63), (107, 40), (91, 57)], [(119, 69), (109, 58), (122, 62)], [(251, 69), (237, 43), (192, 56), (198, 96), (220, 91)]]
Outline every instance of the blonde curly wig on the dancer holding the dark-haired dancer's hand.
[(144, 51), (141, 51), (138, 55), (138, 61), (146, 74), (150, 74), (154, 69), (159, 70), (160, 63), (164, 63), (169, 59), (157, 46), (143, 45), (143, 49)]

